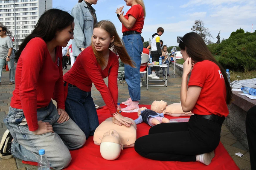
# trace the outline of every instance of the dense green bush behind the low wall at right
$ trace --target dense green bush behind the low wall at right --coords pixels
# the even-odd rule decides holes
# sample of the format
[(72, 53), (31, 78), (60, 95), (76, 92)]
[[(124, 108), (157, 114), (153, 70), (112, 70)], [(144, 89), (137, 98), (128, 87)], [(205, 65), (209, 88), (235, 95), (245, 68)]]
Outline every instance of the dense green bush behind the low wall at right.
[[(233, 71), (256, 70), (256, 32), (244, 33), (241, 28), (231, 33), (220, 44), (208, 45), (213, 55), (219, 55), (218, 61)], [(216, 57), (217, 58), (217, 57)]]

